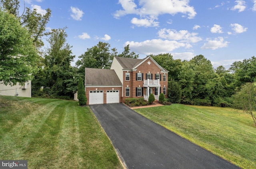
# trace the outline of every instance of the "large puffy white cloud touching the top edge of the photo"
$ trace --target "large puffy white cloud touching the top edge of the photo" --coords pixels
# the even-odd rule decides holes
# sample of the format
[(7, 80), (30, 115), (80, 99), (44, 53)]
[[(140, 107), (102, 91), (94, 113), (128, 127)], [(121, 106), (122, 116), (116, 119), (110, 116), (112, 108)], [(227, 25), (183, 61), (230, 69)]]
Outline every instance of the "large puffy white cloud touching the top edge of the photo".
[[(114, 13), (115, 18), (120, 18), (127, 14), (136, 14), (140, 16), (140, 19), (133, 18), (132, 23), (136, 23), (137, 26), (158, 26), (159, 15), (182, 13), (188, 18), (194, 18), (196, 11), (194, 7), (189, 6), (189, 0), (138, 0), (138, 5), (134, 0), (119, 0), (118, 4), (122, 5), (122, 10), (117, 10)], [(146, 18), (146, 19), (145, 19)]]

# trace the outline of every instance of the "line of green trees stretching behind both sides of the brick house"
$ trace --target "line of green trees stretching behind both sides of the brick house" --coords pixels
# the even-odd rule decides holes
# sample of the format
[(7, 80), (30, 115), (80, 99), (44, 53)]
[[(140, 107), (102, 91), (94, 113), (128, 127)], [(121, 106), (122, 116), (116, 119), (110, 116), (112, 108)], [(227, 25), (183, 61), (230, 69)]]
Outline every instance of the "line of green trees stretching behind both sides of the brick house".
[[(129, 45), (123, 52), (117, 52), (110, 44), (98, 42), (78, 57), (76, 66), (71, 66), (75, 56), (66, 42), (67, 28), (46, 32), (51, 10), (41, 15), (36, 9), (25, 8), (20, 16), (19, 3), (19, 0), (0, 0), (0, 82), (6, 85), (32, 80), (35, 97), (73, 98), (79, 78), (84, 79), (84, 68), (109, 69), (114, 56), (139, 58)], [(43, 37), (49, 46), (44, 46)], [(256, 81), (254, 56), (234, 62), (228, 70), (224, 66), (214, 69), (203, 55), (183, 61), (175, 60), (169, 53), (150, 56), (169, 71), (168, 99), (172, 103), (250, 107), (241, 107), (235, 100), (243, 91), (240, 89)]]

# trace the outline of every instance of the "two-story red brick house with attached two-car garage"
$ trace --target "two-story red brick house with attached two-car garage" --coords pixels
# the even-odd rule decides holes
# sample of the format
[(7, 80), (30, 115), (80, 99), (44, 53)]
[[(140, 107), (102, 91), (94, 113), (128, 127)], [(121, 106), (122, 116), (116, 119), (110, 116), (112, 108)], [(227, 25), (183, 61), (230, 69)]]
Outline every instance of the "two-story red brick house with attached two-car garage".
[(153, 93), (167, 97), (168, 71), (150, 56), (144, 59), (114, 57), (110, 70), (85, 68), (87, 104), (121, 103), (126, 98)]

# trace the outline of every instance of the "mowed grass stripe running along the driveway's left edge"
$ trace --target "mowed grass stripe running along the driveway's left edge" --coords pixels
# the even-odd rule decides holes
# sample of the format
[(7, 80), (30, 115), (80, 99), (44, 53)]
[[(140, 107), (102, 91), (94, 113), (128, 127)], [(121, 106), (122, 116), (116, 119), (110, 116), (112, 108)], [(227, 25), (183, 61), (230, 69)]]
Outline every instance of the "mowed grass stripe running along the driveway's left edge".
[(87, 113), (77, 113), (80, 143), (83, 145), (80, 157), (86, 159), (82, 161), (82, 166), (88, 169), (122, 168), (118, 158), (115, 158), (114, 147), (102, 127), (99, 127), (96, 117), (89, 107), (84, 108), (88, 110)]

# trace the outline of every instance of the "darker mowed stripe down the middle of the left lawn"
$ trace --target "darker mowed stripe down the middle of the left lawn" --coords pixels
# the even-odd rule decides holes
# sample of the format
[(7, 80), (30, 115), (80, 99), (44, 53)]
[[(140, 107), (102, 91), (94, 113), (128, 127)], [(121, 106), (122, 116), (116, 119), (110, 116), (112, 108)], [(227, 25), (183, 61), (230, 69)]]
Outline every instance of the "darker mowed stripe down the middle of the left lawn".
[(49, 115), (37, 133), (32, 135), (30, 144), (24, 153), (24, 157), (33, 166), (31, 168), (52, 168), (53, 161), (58, 159), (56, 145), (58, 145), (59, 133), (64, 120), (65, 104), (66, 101), (55, 103), (54, 109), (48, 110)]

